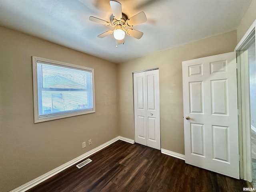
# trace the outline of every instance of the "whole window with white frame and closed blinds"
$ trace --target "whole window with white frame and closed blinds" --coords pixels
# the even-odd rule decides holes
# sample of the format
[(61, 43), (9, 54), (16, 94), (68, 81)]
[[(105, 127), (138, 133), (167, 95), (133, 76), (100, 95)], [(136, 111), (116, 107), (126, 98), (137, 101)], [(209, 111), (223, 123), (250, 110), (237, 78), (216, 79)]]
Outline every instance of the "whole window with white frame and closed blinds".
[(94, 69), (32, 58), (35, 123), (95, 112)]

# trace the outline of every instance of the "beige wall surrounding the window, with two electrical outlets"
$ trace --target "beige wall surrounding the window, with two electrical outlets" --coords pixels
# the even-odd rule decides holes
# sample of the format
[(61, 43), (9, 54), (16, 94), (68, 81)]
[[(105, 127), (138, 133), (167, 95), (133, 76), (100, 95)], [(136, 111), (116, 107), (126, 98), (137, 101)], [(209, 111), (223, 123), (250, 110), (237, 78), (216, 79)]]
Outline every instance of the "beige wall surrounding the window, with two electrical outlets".
[[(32, 56), (94, 68), (96, 113), (34, 124)], [(0, 27), (1, 192), (118, 136), (116, 72), (116, 64)]]

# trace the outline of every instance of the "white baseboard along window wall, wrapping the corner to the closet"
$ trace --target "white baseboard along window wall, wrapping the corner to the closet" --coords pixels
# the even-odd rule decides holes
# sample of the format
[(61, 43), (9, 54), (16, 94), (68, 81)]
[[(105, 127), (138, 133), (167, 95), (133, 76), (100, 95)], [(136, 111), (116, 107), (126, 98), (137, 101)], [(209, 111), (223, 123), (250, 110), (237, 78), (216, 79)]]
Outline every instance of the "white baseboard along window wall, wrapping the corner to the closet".
[(74, 158), (73, 160), (71, 160), (71, 161), (69, 161), (69, 162), (67, 162), (67, 163), (49, 171), (49, 172), (47, 172), (46, 174), (43, 174), (43, 175), (39, 176), (38, 178), (35, 178), (34, 180), (25, 183), (24, 185), (14, 189), (10, 192), (25, 192), (26, 190), (31, 189), (32, 187), (42, 183), (46, 179), (58, 174), (59, 172), (65, 170), (66, 168), (69, 168), (70, 166), (78, 163), (79, 161), (87, 158), (88, 156), (91, 156), (92, 154), (98, 152), (99, 150), (102, 150), (103, 148), (109, 146), (110, 144), (112, 144), (112, 143), (114, 143), (118, 140), (122, 140), (122, 141), (125, 141), (125, 142), (128, 142), (128, 143), (134, 144), (134, 140), (118, 136), (118, 137), (116, 137), (116, 138), (114, 138), (114, 139), (112, 139), (112, 140), (110, 140), (110, 141), (108, 141), (108, 142), (106, 142), (106, 143), (104, 143), (104, 144), (102, 144), (102, 145), (100, 145), (100, 146), (98, 146), (98, 147), (80, 155), (79, 157)]

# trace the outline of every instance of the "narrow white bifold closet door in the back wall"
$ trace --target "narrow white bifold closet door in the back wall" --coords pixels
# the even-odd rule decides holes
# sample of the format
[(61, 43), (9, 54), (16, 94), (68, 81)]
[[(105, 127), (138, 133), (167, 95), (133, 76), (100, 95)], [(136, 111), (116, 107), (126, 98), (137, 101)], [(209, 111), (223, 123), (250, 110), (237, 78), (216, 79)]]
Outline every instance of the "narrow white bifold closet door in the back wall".
[(134, 73), (135, 142), (160, 150), (159, 70)]

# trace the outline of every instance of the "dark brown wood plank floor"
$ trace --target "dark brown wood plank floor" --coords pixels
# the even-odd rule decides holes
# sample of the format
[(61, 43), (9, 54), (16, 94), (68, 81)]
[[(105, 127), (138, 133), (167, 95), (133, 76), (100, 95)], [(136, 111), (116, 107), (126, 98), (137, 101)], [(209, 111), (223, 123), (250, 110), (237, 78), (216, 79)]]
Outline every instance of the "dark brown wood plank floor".
[(117, 141), (27, 192), (242, 192), (252, 187), (139, 144)]

